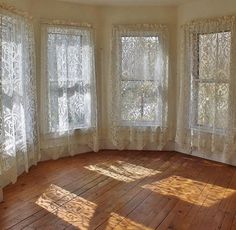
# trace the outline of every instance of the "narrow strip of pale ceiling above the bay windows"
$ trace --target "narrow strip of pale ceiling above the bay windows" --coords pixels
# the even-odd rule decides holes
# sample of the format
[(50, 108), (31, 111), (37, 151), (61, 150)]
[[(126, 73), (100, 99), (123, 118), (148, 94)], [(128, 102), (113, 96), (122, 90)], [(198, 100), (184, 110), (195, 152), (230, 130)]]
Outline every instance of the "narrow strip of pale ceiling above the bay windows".
[(178, 6), (193, 0), (57, 0), (61, 2), (74, 2), (89, 5), (156, 5)]

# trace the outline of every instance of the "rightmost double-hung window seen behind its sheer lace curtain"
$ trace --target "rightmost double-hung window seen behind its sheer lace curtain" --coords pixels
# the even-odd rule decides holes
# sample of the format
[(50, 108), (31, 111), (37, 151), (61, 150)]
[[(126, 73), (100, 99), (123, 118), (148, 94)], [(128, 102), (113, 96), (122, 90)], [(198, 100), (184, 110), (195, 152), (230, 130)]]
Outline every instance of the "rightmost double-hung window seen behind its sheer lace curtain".
[(231, 32), (202, 33), (194, 39), (192, 98), (193, 127), (227, 127)]

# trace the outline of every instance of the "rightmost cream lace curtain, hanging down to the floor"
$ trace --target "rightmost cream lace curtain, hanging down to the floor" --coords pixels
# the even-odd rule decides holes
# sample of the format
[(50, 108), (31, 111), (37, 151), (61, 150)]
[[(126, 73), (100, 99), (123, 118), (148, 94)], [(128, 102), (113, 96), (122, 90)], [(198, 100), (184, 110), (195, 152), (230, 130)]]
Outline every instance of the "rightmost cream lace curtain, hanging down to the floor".
[(235, 17), (193, 21), (182, 28), (178, 148), (235, 162)]

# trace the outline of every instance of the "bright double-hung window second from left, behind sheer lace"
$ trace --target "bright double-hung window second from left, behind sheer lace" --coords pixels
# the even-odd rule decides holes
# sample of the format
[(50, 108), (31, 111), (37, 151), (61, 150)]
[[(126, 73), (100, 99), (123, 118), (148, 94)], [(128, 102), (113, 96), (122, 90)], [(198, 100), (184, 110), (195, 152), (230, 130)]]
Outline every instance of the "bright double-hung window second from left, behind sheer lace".
[(46, 43), (48, 132), (92, 127), (96, 106), (91, 31), (47, 27)]

